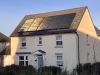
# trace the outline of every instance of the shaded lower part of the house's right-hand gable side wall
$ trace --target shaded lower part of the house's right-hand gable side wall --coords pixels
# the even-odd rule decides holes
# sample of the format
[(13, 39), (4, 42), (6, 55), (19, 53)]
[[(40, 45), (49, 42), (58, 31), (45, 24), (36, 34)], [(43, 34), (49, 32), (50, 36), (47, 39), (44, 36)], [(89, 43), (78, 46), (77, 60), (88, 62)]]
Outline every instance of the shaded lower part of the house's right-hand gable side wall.
[(79, 32), (80, 63), (100, 62), (100, 37)]

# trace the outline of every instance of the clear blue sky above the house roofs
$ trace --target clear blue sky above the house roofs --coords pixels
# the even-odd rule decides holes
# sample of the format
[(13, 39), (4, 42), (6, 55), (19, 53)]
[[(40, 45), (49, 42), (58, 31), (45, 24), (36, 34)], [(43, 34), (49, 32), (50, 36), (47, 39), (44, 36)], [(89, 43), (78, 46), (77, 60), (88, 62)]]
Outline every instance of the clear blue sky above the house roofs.
[(87, 6), (100, 28), (100, 0), (0, 0), (0, 32), (13, 32), (25, 15)]

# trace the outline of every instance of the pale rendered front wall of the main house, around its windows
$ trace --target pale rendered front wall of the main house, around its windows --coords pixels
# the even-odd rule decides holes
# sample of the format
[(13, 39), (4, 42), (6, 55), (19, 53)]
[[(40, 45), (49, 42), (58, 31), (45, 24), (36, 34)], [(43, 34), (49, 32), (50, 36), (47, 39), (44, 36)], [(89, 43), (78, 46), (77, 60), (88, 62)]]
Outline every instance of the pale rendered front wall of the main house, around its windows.
[(37, 67), (35, 62), (34, 52), (37, 50), (43, 50), (46, 52), (44, 55), (44, 65), (45, 66), (56, 66), (56, 53), (63, 54), (64, 69), (72, 70), (76, 67), (78, 63), (77, 57), (77, 36), (76, 34), (62, 34), (63, 47), (57, 48), (56, 46), (56, 35), (44, 35), (42, 37), (42, 46), (38, 45), (38, 37), (32, 36), (26, 37), (26, 49), (20, 48), (19, 37), (11, 37), (11, 55), (12, 63), (18, 65), (18, 56), (22, 54), (15, 55), (15, 52), (32, 52), (33, 54), (23, 54), (29, 56), (29, 65)]

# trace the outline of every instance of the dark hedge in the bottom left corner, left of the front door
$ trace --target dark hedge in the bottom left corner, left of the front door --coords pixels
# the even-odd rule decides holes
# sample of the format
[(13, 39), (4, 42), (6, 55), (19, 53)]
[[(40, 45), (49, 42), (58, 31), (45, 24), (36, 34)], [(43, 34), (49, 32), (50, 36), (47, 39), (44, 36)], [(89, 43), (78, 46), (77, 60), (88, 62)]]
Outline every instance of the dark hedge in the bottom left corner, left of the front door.
[(11, 65), (0, 69), (0, 75), (33, 75), (34, 73), (36, 70), (33, 66)]

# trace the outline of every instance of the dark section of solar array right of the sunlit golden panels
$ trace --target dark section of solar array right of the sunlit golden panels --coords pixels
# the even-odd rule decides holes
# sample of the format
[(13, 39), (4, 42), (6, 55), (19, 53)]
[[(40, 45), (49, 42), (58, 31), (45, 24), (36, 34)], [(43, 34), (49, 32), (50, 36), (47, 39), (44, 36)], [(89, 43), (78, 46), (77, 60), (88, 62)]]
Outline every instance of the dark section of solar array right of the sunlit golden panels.
[(75, 17), (75, 13), (45, 17), (37, 30), (68, 28)]

